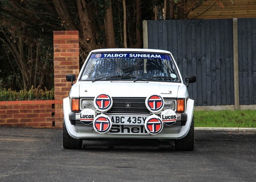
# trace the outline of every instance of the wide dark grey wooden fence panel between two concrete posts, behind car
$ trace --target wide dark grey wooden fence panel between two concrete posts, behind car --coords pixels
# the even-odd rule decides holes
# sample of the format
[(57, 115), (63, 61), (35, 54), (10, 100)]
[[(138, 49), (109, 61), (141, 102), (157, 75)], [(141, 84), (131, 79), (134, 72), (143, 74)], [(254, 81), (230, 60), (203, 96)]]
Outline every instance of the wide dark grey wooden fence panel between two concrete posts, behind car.
[(234, 105), (232, 19), (149, 20), (148, 48), (172, 52), (183, 79), (196, 75), (196, 106)]

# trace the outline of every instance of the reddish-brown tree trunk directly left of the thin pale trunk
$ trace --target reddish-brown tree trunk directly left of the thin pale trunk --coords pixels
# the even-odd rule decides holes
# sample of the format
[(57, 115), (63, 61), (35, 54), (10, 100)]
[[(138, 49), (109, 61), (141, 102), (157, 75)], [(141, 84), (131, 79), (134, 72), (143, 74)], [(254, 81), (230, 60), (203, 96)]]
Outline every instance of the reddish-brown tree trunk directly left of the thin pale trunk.
[(116, 48), (111, 0), (106, 0), (105, 34), (107, 48)]

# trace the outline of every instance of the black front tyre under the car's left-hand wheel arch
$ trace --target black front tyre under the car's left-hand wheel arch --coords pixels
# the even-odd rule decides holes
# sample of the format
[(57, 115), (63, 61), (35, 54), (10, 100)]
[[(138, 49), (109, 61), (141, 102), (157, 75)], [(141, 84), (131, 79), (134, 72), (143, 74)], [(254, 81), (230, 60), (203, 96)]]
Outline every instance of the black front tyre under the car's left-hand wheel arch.
[(83, 139), (76, 139), (68, 134), (65, 121), (63, 121), (63, 148), (65, 149), (81, 149), (83, 146)]

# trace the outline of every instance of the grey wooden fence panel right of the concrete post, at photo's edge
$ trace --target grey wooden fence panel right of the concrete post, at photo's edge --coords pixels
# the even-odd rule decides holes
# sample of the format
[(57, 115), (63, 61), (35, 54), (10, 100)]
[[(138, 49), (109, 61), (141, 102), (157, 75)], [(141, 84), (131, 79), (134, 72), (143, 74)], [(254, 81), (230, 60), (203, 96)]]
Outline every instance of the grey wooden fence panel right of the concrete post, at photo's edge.
[(256, 104), (256, 19), (238, 19), (239, 103)]

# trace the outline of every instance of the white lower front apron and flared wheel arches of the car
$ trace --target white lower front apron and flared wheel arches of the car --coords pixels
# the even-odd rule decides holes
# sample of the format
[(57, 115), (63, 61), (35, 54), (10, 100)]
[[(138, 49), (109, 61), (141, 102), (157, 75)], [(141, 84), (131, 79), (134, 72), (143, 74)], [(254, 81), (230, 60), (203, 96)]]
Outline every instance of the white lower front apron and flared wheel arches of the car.
[[(188, 99), (187, 109), (185, 115), (180, 115), (179, 121), (180, 125), (164, 125), (163, 130), (156, 135), (140, 135), (140, 134), (110, 134), (110, 133), (97, 133), (92, 124), (76, 124), (79, 120), (76, 117), (76, 114), (69, 114), (70, 112), (70, 103), (69, 99), (63, 99), (63, 112), (64, 112), (64, 122), (66, 123), (68, 134), (73, 138), (152, 138), (152, 139), (180, 139), (187, 135), (194, 111), (194, 100)], [(79, 116), (79, 115), (78, 115)], [(69, 120), (71, 119), (71, 120)], [(177, 118), (178, 119), (178, 118)], [(72, 125), (71, 123), (74, 123)], [(80, 122), (80, 121), (79, 121)], [(185, 125), (181, 125), (181, 123)]]

